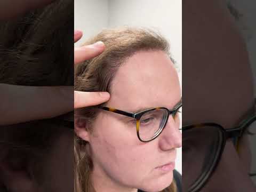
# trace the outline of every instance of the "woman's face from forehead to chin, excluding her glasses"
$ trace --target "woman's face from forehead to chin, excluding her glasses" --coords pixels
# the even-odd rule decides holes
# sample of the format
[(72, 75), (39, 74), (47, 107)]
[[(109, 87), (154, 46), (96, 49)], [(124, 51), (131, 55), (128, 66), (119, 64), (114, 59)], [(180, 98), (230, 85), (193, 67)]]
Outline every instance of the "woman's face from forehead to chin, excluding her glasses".
[[(105, 106), (124, 111), (172, 109), (181, 99), (181, 89), (177, 71), (164, 52), (140, 51), (118, 69), (110, 95)], [(93, 122), (88, 140), (96, 188), (97, 181), (122, 191), (159, 191), (171, 184), (174, 167), (157, 167), (175, 162), (176, 149), (181, 147), (179, 117), (174, 121), (170, 115), (159, 137), (147, 143), (139, 141), (133, 122), (130, 117), (103, 110)]]

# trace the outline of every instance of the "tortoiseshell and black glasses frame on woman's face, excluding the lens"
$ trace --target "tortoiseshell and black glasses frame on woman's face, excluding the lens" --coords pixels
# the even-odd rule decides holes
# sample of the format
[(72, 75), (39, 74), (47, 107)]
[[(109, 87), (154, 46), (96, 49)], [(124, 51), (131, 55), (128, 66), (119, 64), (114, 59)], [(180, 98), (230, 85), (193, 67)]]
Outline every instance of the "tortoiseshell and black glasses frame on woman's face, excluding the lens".
[[(97, 107), (99, 109), (103, 109), (103, 110), (106, 110), (106, 111), (110, 111), (110, 112), (113, 112), (113, 113), (116, 113), (116, 114), (121, 114), (121, 115), (124, 115), (124, 116), (136, 119), (136, 130), (137, 130), (138, 139), (141, 142), (149, 142), (149, 141), (153, 141), (154, 139), (156, 139), (162, 133), (165, 125), (168, 122), (168, 119), (169, 119), (170, 115), (172, 115), (173, 118), (174, 118), (174, 116), (178, 112), (180, 112), (179, 109), (182, 107), (182, 101), (180, 101), (173, 109), (167, 109), (165, 107), (157, 107), (157, 108), (146, 109), (146, 110), (140, 111), (138, 113), (130, 113), (130, 112), (127, 112), (127, 111), (123, 111), (123, 110), (119, 110), (119, 109), (115, 109), (115, 108), (110, 108), (110, 107), (105, 107), (105, 106), (97, 106)], [(144, 114), (146, 114), (146, 113), (148, 113), (150, 111), (154, 111), (154, 110), (158, 110), (158, 109), (165, 110), (165, 115), (163, 116), (163, 118), (164, 118), (163, 122), (161, 123), (161, 126), (159, 126), (159, 129), (156, 131), (156, 133), (154, 134), (154, 136), (151, 139), (143, 140), (140, 137), (140, 120), (141, 120), (141, 117)]]

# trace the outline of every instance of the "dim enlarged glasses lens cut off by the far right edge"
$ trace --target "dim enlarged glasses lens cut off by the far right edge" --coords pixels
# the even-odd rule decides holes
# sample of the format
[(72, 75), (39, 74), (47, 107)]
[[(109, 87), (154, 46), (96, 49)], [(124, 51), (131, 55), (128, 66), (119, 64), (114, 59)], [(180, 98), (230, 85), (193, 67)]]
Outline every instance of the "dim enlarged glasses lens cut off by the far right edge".
[(256, 186), (256, 121), (245, 130), (238, 142), (238, 153), (244, 166), (249, 170), (251, 179)]

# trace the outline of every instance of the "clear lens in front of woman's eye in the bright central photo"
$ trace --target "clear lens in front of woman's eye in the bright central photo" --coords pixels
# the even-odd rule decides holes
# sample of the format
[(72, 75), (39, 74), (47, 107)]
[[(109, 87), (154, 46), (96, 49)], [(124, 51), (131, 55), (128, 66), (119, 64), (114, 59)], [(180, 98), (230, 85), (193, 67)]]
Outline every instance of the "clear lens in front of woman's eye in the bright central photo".
[(165, 109), (155, 109), (143, 114), (140, 118), (140, 139), (149, 141), (157, 137), (166, 123), (167, 115)]

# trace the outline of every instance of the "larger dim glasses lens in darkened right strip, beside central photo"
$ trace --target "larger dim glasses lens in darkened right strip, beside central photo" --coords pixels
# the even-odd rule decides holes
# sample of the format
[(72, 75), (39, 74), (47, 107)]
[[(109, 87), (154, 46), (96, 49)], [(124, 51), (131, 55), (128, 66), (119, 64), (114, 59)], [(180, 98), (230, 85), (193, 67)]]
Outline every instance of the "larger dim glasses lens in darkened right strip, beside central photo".
[(217, 163), (222, 142), (223, 133), (218, 126), (182, 128), (182, 187), (185, 191), (193, 191), (205, 183)]

